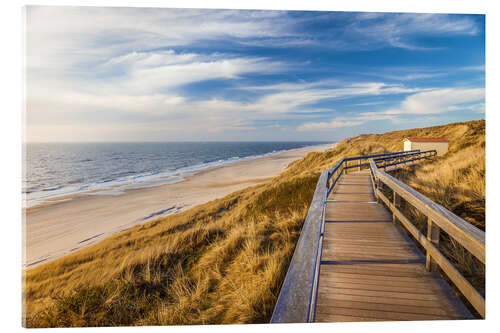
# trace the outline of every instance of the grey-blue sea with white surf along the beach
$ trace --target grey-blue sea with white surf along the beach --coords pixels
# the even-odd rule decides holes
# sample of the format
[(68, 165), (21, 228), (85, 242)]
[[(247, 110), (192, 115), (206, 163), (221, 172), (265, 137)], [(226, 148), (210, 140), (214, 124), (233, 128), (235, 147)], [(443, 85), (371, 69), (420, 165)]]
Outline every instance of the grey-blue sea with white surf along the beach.
[(79, 192), (119, 195), (125, 189), (171, 184), (208, 167), (324, 143), (27, 143), (23, 207)]

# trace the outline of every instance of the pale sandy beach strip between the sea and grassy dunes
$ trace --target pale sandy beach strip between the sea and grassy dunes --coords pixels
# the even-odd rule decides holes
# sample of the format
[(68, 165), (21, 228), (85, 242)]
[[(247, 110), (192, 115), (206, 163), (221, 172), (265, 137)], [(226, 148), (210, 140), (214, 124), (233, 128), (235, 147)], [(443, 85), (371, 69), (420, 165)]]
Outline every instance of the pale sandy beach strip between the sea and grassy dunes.
[(332, 147), (311, 146), (212, 167), (178, 183), (125, 190), (120, 195), (80, 193), (46, 200), (24, 209), (23, 267), (35, 267), (134, 225), (266, 182), (290, 162)]

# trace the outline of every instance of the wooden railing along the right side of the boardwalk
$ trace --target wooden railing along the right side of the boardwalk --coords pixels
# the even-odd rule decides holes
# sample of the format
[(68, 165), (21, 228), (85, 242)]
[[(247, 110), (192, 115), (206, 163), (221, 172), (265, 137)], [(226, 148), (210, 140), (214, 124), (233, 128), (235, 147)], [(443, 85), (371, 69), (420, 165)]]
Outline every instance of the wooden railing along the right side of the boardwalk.
[[(387, 161), (387, 160), (386, 160)], [(467, 281), (453, 264), (439, 251), (439, 234), (443, 230), (457, 241), (473, 256), (485, 263), (485, 233), (466, 220), (453, 214), (443, 206), (433, 202), (413, 188), (380, 170), (377, 160), (370, 160), (370, 173), (373, 184), (376, 184), (375, 196), (382, 200), (393, 213), (393, 221), (400, 223), (426, 250), (426, 268), (436, 271), (437, 267), (448, 276), (464, 297), (484, 318), (485, 300), (481, 294)], [(392, 190), (392, 202), (381, 191), (384, 184)], [(427, 235), (418, 230), (399, 209), (401, 199), (416, 208), (427, 217)]]

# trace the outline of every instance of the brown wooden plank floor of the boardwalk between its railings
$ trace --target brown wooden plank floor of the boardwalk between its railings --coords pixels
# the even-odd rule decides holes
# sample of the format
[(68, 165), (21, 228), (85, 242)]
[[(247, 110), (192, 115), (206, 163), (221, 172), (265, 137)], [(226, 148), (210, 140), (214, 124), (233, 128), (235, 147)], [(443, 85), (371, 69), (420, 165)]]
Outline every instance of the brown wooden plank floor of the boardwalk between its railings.
[(327, 198), (317, 292), (317, 322), (472, 318), (377, 203), (369, 170), (343, 175)]

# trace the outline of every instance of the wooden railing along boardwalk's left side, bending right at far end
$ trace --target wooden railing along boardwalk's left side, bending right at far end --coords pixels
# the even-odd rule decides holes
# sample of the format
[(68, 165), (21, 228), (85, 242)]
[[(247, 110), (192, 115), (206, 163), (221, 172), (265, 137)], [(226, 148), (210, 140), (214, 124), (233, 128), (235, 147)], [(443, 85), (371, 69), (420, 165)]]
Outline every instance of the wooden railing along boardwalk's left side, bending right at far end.
[(369, 167), (368, 161), (373, 158), (400, 156), (401, 163), (404, 163), (402, 161), (406, 156), (408, 162), (417, 158), (418, 155), (412, 155), (415, 153), (418, 154), (419, 150), (344, 158), (330, 170), (321, 173), (271, 323), (306, 323), (313, 319), (323, 242), (325, 202), (342, 172), (351, 168)]

